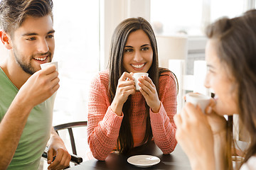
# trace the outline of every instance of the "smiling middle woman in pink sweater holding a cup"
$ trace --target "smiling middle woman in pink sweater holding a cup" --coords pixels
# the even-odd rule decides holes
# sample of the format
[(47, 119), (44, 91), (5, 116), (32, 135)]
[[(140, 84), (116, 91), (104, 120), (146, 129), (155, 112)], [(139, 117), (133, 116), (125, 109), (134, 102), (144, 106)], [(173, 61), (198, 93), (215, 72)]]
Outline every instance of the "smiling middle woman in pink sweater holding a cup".
[[(147, 72), (139, 78), (135, 72)], [(112, 36), (109, 69), (92, 81), (88, 143), (93, 157), (105, 160), (114, 149), (127, 154), (152, 139), (164, 154), (176, 147), (177, 84), (169, 69), (159, 68), (156, 38), (143, 18), (128, 18)]]

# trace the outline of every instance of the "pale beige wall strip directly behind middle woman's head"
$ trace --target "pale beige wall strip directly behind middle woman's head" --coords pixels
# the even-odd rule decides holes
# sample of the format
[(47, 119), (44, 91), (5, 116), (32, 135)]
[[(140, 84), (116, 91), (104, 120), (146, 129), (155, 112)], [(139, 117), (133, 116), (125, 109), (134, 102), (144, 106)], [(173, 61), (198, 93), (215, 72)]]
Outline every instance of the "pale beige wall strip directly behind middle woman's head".
[(150, 0), (101, 0), (100, 1), (100, 69), (107, 67), (110, 42), (114, 28), (124, 19), (141, 16), (149, 21)]

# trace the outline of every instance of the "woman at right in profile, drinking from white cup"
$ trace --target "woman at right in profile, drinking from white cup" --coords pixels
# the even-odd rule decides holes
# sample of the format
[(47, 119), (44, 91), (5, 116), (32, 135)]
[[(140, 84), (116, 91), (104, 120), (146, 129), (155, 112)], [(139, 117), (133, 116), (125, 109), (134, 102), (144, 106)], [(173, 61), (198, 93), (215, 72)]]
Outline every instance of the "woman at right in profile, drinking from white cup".
[(206, 30), (205, 86), (215, 99), (206, 115), (191, 103), (174, 117), (176, 139), (188, 155), (192, 169), (233, 169), (235, 151), (232, 124), (223, 115), (239, 114), (250, 133), (242, 166), (256, 169), (256, 10), (240, 17), (221, 18)]

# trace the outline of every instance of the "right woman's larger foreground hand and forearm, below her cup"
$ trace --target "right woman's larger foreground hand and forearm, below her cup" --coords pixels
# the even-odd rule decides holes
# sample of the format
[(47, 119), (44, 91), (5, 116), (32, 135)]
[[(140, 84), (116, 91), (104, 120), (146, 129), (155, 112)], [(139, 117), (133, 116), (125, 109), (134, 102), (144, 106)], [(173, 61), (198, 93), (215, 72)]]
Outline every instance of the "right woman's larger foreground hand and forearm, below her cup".
[(181, 113), (174, 115), (174, 123), (176, 140), (186, 152), (192, 169), (215, 169), (213, 132), (201, 108), (186, 103)]

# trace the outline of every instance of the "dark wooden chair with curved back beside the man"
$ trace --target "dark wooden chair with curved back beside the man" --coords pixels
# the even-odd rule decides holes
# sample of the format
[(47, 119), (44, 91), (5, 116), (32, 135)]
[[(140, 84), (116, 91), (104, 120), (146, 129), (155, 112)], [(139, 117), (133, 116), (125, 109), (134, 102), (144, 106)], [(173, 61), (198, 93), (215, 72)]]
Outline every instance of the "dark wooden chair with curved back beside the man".
[[(75, 139), (73, 135), (73, 130), (72, 128), (78, 128), (78, 127), (87, 127), (87, 121), (81, 121), (81, 122), (73, 122), (73, 123), (64, 123), (61, 125), (55, 125), (53, 128), (54, 130), (58, 133), (58, 130), (68, 130), (68, 133), (70, 135), (70, 143), (72, 147), (72, 152), (73, 154), (71, 155), (71, 160), (70, 162), (73, 162), (75, 164), (80, 164), (82, 162), (82, 157), (78, 157), (77, 155), (77, 150), (75, 147)], [(47, 152), (43, 152), (42, 157), (47, 158)]]

